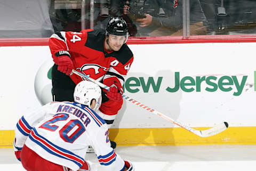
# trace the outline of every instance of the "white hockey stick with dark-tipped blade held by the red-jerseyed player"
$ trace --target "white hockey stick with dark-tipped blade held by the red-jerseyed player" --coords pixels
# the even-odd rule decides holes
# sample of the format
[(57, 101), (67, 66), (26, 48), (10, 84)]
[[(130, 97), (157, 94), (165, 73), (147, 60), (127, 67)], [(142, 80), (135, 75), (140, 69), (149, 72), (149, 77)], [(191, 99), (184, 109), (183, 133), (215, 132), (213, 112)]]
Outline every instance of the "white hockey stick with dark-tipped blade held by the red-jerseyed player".
[[(109, 91), (109, 87), (108, 86), (106, 86), (105, 84), (102, 84), (101, 82), (99, 82), (97, 80), (94, 80), (94, 79), (90, 78), (89, 76), (87, 76), (87, 75), (85, 75), (85, 74), (83, 74), (81, 72), (73, 70), (72, 73), (74, 73), (76, 75), (79, 75), (79, 76), (81, 76), (82, 78), (84, 78), (86, 80), (94, 82), (95, 84), (98, 84), (98, 86), (100, 86), (101, 88), (106, 89), (106, 90)], [(164, 114), (158, 112), (157, 110), (154, 110), (153, 108), (150, 108), (148, 106), (145, 106), (145, 105), (141, 104), (141, 102), (126, 96), (124, 93), (122, 93), (122, 97), (123, 97), (123, 99), (132, 102), (134, 105), (137, 105), (137, 106), (139, 106), (139, 107), (141, 107), (143, 109), (146, 109), (146, 110), (148, 110), (148, 112), (151, 112), (151, 113), (154, 113), (154, 114), (156, 114), (158, 116), (161, 116), (162, 118), (166, 119), (167, 121), (170, 121), (170, 122), (172, 122), (172, 123), (182, 127), (183, 129), (186, 129), (186, 130), (188, 130), (188, 131), (190, 131), (190, 132), (192, 132), (192, 133), (194, 133), (194, 134), (196, 134), (198, 136), (201, 136), (201, 137), (207, 137), (207, 136), (212, 136), (212, 135), (218, 134), (218, 133), (226, 130), (227, 127), (228, 127), (228, 123), (227, 122), (223, 122), (223, 123), (221, 123), (219, 125), (216, 125), (216, 126), (210, 128), (210, 129), (207, 129), (207, 130), (201, 130), (201, 131), (200, 130), (195, 130), (195, 129), (189, 127), (189, 126), (186, 126), (186, 125), (183, 125), (183, 124), (181, 124), (181, 123), (179, 123), (177, 121), (174, 121), (172, 118), (170, 118), (168, 116), (165, 116)]]

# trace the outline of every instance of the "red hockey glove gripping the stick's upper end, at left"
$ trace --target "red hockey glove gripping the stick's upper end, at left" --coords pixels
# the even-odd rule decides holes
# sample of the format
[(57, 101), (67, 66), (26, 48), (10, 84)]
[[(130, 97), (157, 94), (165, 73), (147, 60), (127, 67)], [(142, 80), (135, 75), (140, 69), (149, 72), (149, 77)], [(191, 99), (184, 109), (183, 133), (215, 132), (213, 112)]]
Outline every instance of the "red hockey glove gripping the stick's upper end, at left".
[(57, 59), (58, 70), (66, 75), (69, 75), (74, 69), (73, 62), (68, 56), (59, 56)]

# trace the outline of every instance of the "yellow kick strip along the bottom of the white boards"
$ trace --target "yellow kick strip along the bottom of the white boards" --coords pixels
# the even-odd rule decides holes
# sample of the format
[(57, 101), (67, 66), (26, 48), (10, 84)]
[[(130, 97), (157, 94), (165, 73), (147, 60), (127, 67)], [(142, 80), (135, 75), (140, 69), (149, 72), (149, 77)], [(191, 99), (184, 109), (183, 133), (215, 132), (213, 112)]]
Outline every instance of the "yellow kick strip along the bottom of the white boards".
[[(200, 130), (205, 127), (197, 128)], [(12, 148), (13, 130), (0, 131), (0, 148)], [(110, 129), (109, 139), (120, 146), (256, 144), (256, 127), (229, 127), (225, 132), (201, 138), (181, 128)]]

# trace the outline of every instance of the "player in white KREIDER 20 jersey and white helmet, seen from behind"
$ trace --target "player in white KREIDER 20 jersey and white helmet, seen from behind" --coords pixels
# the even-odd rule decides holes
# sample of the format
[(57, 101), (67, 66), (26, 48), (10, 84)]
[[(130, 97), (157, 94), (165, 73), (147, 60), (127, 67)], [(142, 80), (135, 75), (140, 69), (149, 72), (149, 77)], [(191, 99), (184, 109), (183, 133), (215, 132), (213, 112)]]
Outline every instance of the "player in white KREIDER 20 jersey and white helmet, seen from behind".
[(74, 101), (50, 102), (19, 119), (13, 146), (22, 166), (31, 171), (94, 171), (97, 168), (85, 161), (92, 146), (106, 170), (134, 170), (110, 147), (107, 124), (94, 112), (101, 105), (99, 86), (78, 83)]

